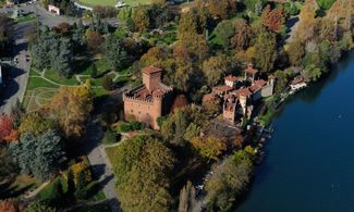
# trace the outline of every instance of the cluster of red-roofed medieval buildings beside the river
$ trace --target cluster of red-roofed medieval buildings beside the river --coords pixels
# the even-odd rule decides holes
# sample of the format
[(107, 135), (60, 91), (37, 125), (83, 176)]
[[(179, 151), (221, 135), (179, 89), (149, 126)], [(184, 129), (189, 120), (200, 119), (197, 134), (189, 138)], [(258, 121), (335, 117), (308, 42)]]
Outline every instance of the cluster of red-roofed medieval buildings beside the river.
[(243, 77), (227, 76), (224, 85), (213, 87), (211, 93), (207, 93), (203, 98), (204, 102), (222, 102), (222, 117), (229, 125), (251, 119), (254, 103), (264, 97), (273, 95), (273, 76), (269, 76), (268, 82), (257, 79), (258, 71), (253, 67), (252, 63), (243, 72)]

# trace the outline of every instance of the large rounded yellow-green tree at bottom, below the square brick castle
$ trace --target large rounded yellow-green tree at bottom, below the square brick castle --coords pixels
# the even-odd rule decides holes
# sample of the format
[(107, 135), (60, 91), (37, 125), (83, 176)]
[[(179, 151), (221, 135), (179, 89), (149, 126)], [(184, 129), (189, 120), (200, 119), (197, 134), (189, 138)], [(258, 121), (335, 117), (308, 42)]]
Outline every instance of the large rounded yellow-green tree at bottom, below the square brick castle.
[(152, 137), (137, 136), (114, 152), (117, 188), (124, 211), (169, 211), (171, 150)]

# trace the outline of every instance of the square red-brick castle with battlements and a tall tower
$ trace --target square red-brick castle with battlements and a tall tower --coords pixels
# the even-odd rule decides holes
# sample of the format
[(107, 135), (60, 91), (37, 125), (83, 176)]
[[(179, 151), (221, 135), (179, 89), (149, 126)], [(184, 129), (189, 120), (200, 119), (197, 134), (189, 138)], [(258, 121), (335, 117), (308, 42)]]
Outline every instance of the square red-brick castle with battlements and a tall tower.
[(157, 119), (169, 112), (173, 88), (161, 83), (161, 68), (147, 66), (142, 72), (143, 85), (123, 93), (124, 119), (159, 129)]

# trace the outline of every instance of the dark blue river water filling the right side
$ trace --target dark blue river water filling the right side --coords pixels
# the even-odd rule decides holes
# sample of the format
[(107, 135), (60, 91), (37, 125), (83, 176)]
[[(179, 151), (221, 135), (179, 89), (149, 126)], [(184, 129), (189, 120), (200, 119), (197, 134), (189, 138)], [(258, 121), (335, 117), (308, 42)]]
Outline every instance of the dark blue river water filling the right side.
[(354, 51), (292, 97), (237, 212), (354, 211)]

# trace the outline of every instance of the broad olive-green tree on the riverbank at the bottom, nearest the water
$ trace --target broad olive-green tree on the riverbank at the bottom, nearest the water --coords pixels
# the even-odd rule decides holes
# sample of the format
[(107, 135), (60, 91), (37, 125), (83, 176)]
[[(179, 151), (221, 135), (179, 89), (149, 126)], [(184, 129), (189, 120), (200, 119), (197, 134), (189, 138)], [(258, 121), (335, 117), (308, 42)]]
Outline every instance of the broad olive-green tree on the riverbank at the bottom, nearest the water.
[(213, 174), (206, 180), (207, 210), (228, 211), (249, 184), (253, 162), (245, 151), (240, 150), (213, 165), (211, 171)]

